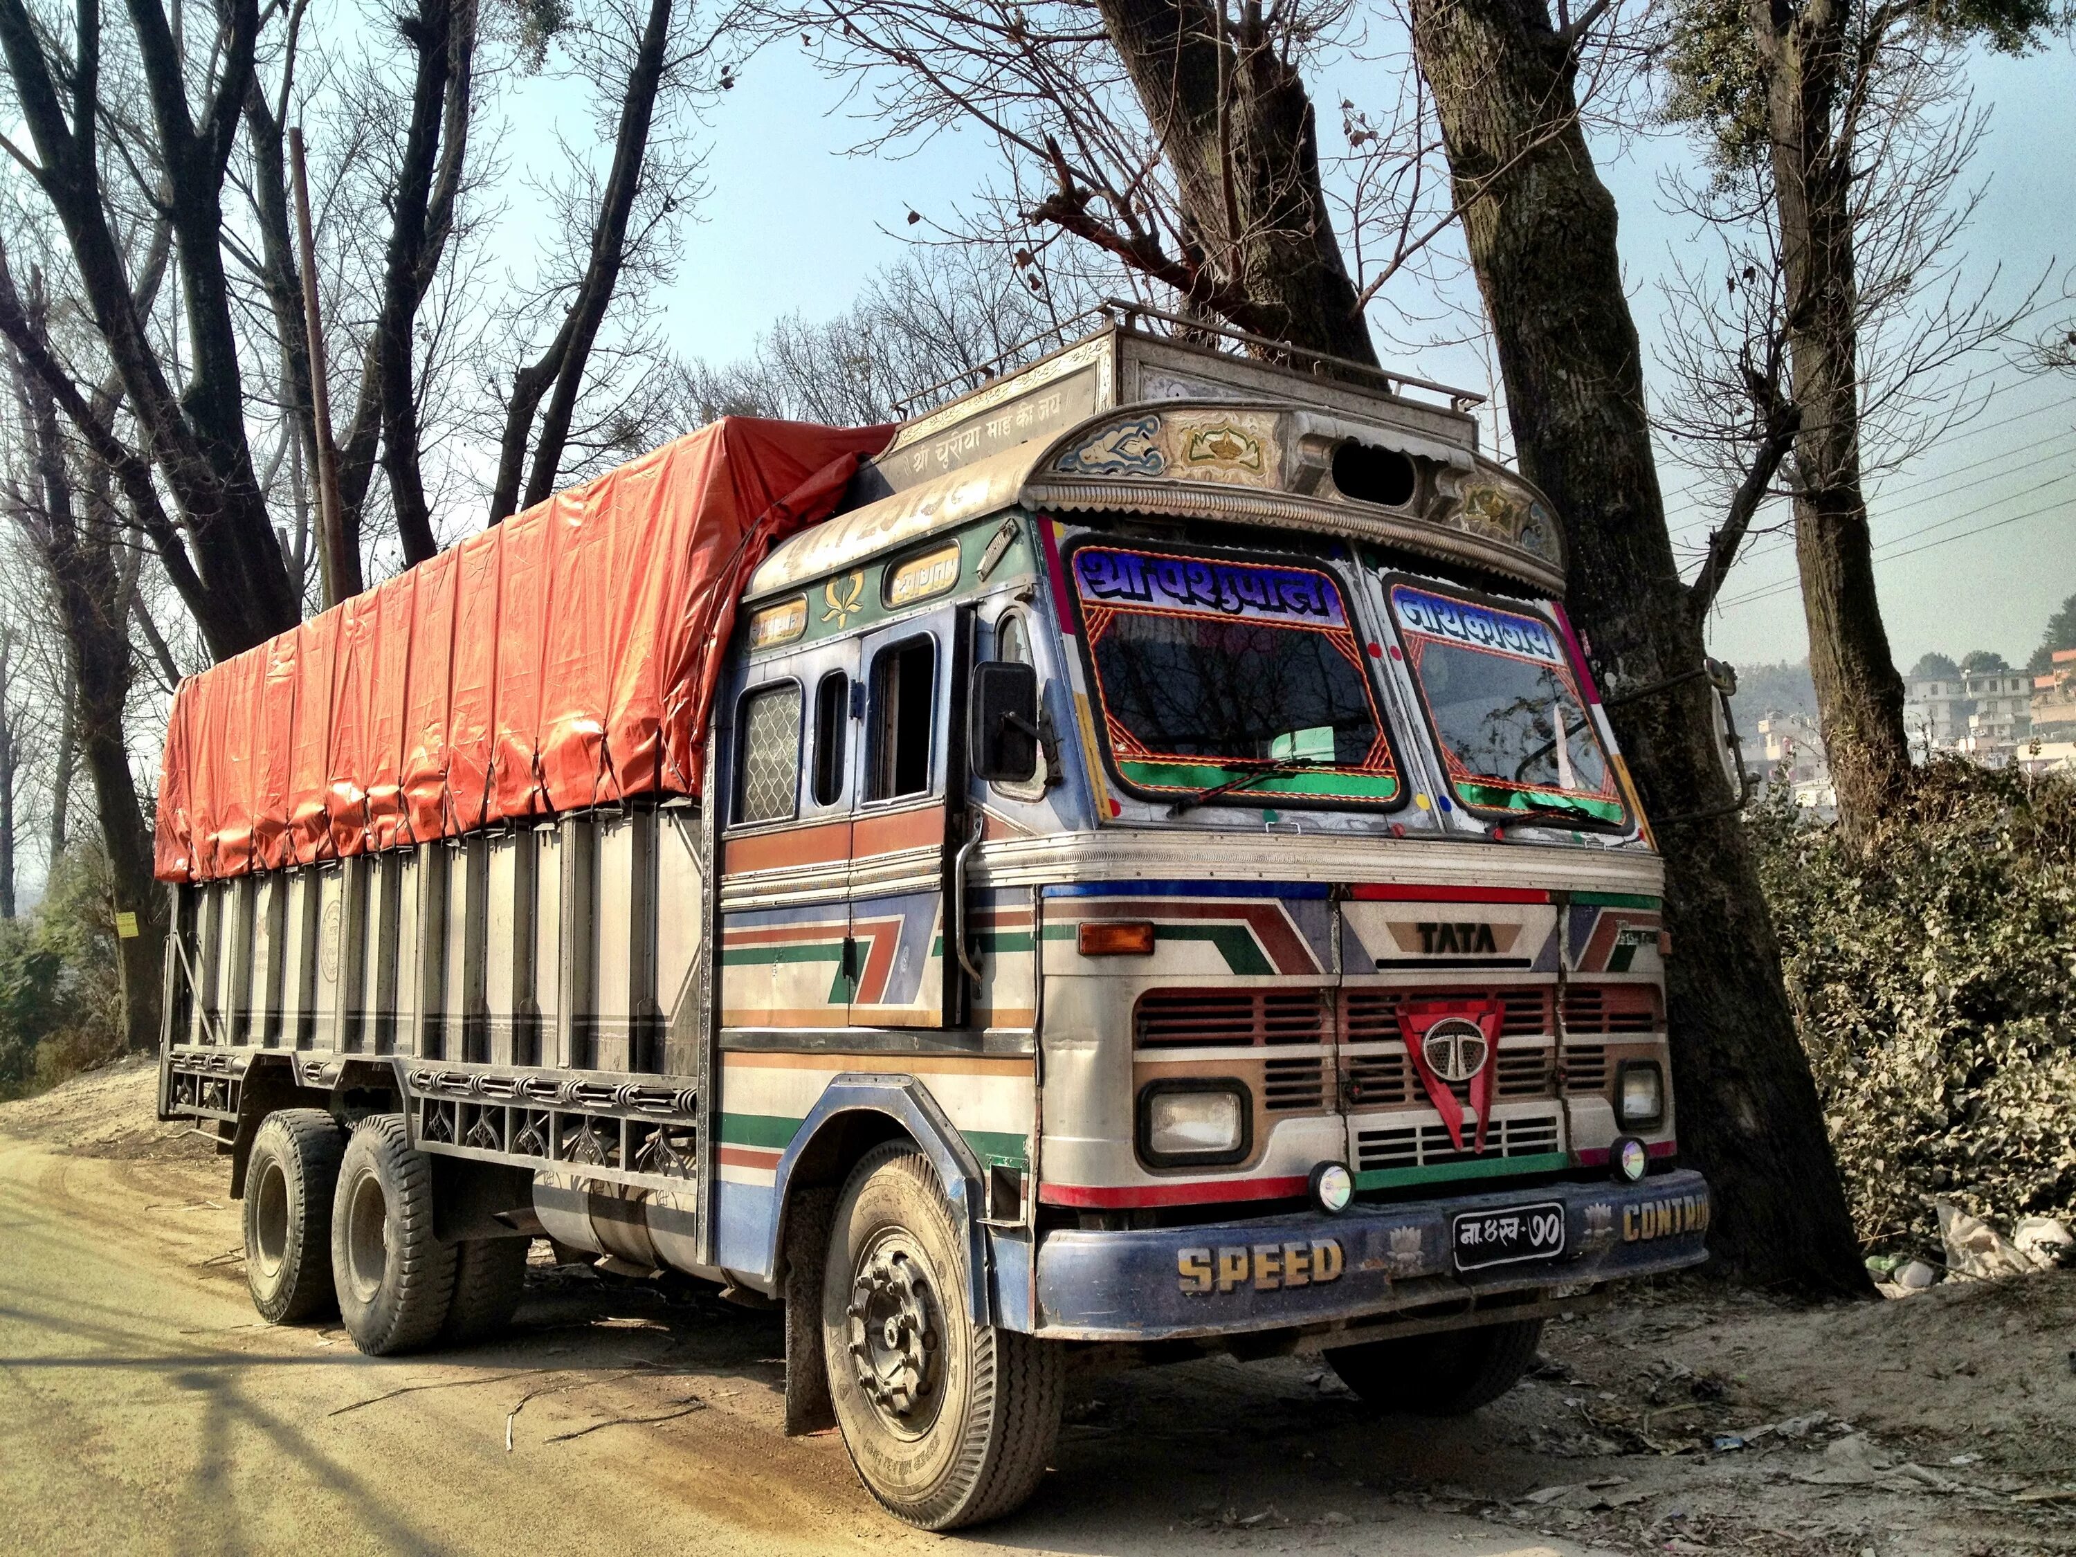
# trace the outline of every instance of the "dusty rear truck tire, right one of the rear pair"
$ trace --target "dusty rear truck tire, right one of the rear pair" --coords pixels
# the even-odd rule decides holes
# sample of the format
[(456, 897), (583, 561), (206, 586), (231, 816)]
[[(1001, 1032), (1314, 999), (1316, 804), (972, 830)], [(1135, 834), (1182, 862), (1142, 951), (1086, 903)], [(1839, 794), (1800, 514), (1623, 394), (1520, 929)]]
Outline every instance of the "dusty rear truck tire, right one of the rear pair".
[(347, 1142), (332, 1281), (347, 1335), (372, 1358), (428, 1345), (446, 1322), (455, 1246), (432, 1233), (432, 1165), (411, 1150), (401, 1115), (370, 1115)]

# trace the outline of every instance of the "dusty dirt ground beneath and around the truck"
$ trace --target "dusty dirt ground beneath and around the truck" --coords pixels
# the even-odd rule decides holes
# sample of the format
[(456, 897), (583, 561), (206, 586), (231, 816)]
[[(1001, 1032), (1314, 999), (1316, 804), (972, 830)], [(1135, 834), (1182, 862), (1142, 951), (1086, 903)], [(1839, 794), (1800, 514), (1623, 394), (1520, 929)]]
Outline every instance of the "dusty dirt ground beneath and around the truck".
[[(778, 1327), (540, 1271), (517, 1333), (361, 1358), (268, 1329), (237, 1206), (125, 1067), (0, 1107), (0, 1528), (19, 1551), (943, 1551), (835, 1435), (778, 1432)], [(1792, 1308), (1696, 1285), (1553, 1324), (1462, 1422), (1304, 1362), (1088, 1378), (976, 1553), (2076, 1551), (2076, 1273)]]

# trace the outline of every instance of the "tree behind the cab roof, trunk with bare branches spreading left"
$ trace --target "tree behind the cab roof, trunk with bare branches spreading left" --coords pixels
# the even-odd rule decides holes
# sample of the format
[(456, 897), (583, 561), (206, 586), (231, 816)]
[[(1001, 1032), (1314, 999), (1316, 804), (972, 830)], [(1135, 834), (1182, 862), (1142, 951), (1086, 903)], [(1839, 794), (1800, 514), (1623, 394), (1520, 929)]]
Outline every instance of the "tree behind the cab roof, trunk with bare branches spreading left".
[(872, 85), (876, 145), (961, 122), (990, 135), (1009, 187), (986, 226), (1034, 278), (1069, 237), (1187, 309), (1376, 361), (1364, 322), (1374, 289), (1358, 291), (1341, 253), (1304, 81), (1349, 27), (1347, 0), (764, 10), (774, 29), (808, 29), (826, 69)]

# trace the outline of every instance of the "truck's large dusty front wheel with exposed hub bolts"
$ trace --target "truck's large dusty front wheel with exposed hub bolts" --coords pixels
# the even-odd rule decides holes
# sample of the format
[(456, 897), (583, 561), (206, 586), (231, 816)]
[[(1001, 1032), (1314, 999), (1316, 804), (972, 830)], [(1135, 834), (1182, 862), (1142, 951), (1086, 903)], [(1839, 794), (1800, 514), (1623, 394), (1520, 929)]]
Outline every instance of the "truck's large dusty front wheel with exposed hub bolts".
[(822, 1356), (857, 1478), (897, 1520), (955, 1530), (1038, 1488), (1061, 1349), (976, 1320), (957, 1221), (907, 1142), (870, 1152), (837, 1200)]

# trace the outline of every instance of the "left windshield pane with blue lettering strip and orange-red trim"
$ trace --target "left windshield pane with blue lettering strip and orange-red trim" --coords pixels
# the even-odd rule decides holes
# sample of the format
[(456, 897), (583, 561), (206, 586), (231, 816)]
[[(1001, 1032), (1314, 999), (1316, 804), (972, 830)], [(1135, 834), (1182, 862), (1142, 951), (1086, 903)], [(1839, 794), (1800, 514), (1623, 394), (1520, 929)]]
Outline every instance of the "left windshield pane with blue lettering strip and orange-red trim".
[(1397, 766), (1331, 573), (1082, 546), (1082, 631), (1117, 776), (1219, 803), (1391, 803)]

